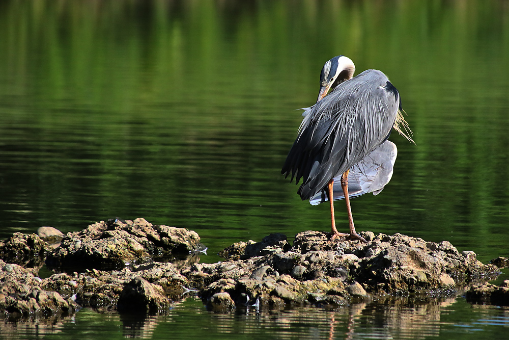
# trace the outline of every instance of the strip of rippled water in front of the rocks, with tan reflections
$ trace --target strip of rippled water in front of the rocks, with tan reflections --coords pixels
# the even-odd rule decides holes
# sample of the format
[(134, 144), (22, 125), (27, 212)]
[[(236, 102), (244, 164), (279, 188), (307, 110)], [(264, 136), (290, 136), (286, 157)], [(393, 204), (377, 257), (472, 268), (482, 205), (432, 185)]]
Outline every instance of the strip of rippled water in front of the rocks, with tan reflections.
[[(465, 314), (468, 318), (465, 319)], [(489, 318), (489, 319), (487, 319)], [(132, 318), (83, 309), (56, 323), (0, 325), (5, 338), (122, 339), (479, 339), (504, 338), (507, 309), (475, 307), (455, 299), (434, 304), (352, 304), (335, 311), (297, 308), (277, 315), (214, 315), (199, 300), (178, 303), (166, 316)], [(192, 326), (190, 326), (192, 325)], [(18, 336), (13, 329), (23, 330)], [(84, 331), (87, 330), (87, 331)]]

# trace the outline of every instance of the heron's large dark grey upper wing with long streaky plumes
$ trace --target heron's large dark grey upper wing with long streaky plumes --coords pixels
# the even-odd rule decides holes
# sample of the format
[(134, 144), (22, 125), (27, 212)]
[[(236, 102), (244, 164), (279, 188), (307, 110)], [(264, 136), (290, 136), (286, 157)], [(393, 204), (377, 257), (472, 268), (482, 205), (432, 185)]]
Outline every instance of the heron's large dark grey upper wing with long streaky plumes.
[(387, 138), (399, 107), (397, 91), (388, 91), (387, 84), (382, 72), (367, 70), (305, 109), (281, 171), (296, 174), (297, 182), (303, 177), (302, 199), (320, 192)]

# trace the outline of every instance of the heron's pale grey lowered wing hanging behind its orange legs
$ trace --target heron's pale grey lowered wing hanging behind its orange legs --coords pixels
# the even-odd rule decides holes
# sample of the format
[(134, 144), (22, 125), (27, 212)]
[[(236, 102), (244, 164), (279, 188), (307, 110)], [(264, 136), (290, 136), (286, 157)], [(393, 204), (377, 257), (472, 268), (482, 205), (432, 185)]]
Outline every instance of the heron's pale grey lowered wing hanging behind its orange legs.
[[(357, 197), (372, 192), (378, 195), (392, 177), (392, 170), (398, 149), (391, 141), (385, 141), (350, 168), (348, 173), (348, 194)], [(341, 188), (341, 175), (334, 177), (334, 200), (345, 199)], [(309, 199), (313, 205), (327, 201), (325, 190)]]

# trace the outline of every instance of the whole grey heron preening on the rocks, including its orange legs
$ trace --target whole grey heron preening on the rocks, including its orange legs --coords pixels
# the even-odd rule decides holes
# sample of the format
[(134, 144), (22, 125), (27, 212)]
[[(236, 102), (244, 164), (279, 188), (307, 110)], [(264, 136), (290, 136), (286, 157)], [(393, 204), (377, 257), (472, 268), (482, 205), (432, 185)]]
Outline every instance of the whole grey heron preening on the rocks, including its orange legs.
[[(349, 197), (367, 192), (376, 195), (390, 180), (397, 154), (394, 143), (387, 140), (392, 127), (412, 139), (400, 111), (398, 90), (385, 74), (366, 70), (352, 78), (354, 72), (355, 65), (345, 56), (325, 63), (317, 103), (304, 109), (298, 137), (281, 173), (287, 177), (291, 172), (296, 182), (303, 178), (297, 191), (302, 200), (312, 204), (330, 201), (332, 240), (349, 236), (366, 242), (355, 231)], [(337, 180), (341, 194), (334, 194), (339, 189), (334, 186)], [(350, 234), (338, 232), (335, 226), (333, 201), (343, 198)]]

